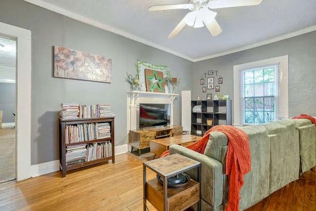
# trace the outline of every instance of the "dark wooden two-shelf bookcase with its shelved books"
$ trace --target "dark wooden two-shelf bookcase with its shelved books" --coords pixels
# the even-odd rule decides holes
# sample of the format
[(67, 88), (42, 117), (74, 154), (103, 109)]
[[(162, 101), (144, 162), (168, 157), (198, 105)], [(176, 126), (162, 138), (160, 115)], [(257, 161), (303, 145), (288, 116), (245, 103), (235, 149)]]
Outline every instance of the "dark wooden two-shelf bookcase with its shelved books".
[(114, 117), (59, 119), (59, 160), (63, 177), (68, 170), (112, 160)]

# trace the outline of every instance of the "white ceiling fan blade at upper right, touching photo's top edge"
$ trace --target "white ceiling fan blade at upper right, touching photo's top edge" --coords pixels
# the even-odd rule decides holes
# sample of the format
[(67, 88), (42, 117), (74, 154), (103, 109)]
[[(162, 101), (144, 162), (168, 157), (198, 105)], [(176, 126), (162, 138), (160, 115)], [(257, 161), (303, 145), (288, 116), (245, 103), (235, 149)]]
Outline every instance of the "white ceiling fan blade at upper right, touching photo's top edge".
[(211, 9), (234, 7), (234, 6), (250, 6), (258, 5), (262, 0), (210, 0), (208, 7)]

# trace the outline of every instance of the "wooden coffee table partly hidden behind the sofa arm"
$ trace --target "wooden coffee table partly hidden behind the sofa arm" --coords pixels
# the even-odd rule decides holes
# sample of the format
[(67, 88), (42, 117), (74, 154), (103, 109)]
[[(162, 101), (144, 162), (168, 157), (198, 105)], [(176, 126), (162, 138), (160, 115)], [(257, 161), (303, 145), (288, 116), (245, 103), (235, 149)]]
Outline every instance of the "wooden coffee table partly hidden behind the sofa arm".
[(156, 157), (169, 149), (169, 146), (172, 144), (178, 144), (181, 146), (188, 146), (202, 137), (196, 135), (177, 135), (168, 138), (154, 139), (150, 141), (150, 152), (154, 153)]

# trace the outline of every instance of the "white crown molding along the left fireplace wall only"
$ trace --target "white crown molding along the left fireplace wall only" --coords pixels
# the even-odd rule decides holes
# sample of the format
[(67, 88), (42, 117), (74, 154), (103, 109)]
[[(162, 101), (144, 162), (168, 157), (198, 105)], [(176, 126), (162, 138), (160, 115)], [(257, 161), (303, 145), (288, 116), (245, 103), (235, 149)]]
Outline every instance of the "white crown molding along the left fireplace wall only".
[(83, 22), (83, 23), (86, 23), (86, 24), (89, 24), (89, 25), (92, 25), (92, 26), (95, 26), (95, 27), (98, 27), (100, 29), (104, 29), (106, 31), (109, 31), (109, 32), (112, 32), (112, 33), (115, 33), (115, 34), (118, 34), (120, 36), (123, 36), (125, 38), (128, 38), (130, 40), (133, 40), (133, 41), (136, 41), (136, 42), (141, 42), (143, 44), (146, 44), (146, 45), (149, 45), (151, 47), (155, 47), (159, 50), (162, 50), (162, 51), (165, 51), (165, 52), (168, 52), (168, 53), (171, 53), (175, 56), (178, 56), (178, 57), (181, 57), (183, 59), (186, 59), (186, 60), (189, 60), (189, 61), (193, 61), (192, 58), (186, 56), (186, 55), (183, 55), (181, 53), (178, 53), (178, 52), (175, 52), (167, 47), (163, 47), (161, 45), (158, 45), (154, 42), (151, 42), (151, 41), (148, 41), (146, 39), (143, 39), (143, 38), (140, 38), (140, 37), (137, 37), (135, 35), (132, 35), (130, 33), (127, 33), (127, 32), (124, 32), (122, 30), (119, 30), (117, 28), (114, 28), (114, 27), (111, 27), (109, 25), (106, 25), (106, 24), (103, 24), (103, 23), (100, 23), (98, 21), (95, 21), (93, 19), (90, 19), (90, 18), (87, 18), (85, 16), (82, 16), (82, 15), (79, 15), (75, 12), (71, 12), (69, 10), (66, 10), (66, 9), (63, 9), (61, 7), (58, 7), (58, 6), (55, 6), (53, 4), (50, 4), (50, 3), (47, 3), (45, 1), (42, 1), (42, 0), (24, 0), (24, 1), (27, 1), (29, 3), (32, 3), (32, 4), (35, 4), (37, 6), (40, 6), (40, 7), (43, 7), (45, 9), (48, 9), (48, 10), (51, 10), (53, 12), (56, 12), (56, 13), (59, 13), (59, 14), (62, 14), (62, 15), (65, 15), (69, 18), (72, 18), (72, 19), (75, 19), (75, 20), (78, 20), (80, 22)]

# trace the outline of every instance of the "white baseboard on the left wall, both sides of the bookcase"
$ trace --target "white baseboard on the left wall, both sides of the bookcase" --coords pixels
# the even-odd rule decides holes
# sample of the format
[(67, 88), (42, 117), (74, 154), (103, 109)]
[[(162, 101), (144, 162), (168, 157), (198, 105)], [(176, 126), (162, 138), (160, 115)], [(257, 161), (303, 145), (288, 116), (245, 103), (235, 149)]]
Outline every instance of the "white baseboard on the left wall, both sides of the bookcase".
[[(127, 152), (127, 144), (116, 146), (114, 148), (115, 155), (124, 154)], [(31, 176), (40, 176), (46, 173), (59, 171), (59, 160), (49, 161), (46, 163), (36, 164), (31, 166)]]

